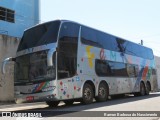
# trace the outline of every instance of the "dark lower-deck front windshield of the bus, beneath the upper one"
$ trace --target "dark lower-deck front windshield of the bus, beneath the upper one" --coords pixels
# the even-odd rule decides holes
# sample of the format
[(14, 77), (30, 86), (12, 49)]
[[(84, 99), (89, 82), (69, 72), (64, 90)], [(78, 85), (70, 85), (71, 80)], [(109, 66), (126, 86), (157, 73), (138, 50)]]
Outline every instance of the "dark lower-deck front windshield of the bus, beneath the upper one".
[[(47, 66), (47, 52), (41, 51), (16, 58), (15, 81), (31, 82), (39, 80), (55, 79), (55, 64)], [(53, 57), (55, 61), (55, 55)]]

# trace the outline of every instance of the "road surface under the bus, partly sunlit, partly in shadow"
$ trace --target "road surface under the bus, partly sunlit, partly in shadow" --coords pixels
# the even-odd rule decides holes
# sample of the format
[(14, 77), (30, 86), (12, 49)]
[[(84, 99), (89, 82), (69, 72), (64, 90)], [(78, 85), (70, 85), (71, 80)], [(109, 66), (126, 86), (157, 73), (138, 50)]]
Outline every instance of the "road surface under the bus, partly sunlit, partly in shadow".
[[(57, 119), (71, 120), (71, 119), (111, 119), (111, 120), (160, 120), (160, 93), (152, 93), (149, 96), (134, 97), (132, 95), (110, 99), (106, 102), (94, 102), (89, 105), (82, 105), (75, 102), (71, 106), (66, 106), (60, 103), (58, 107), (50, 108), (45, 103), (25, 103), (15, 105), (2, 105), (0, 111), (14, 111), (14, 112), (41, 112), (46, 117), (54, 117)], [(156, 112), (155, 112), (156, 111)], [(158, 112), (159, 111), (159, 112)], [(130, 117), (136, 114), (138, 117)], [(144, 115), (143, 117), (140, 117)], [(151, 115), (154, 117), (146, 117)], [(85, 116), (85, 117), (84, 117)], [(109, 116), (109, 117), (108, 117)], [(38, 118), (37, 118), (38, 119)], [(53, 119), (53, 118), (48, 118)]]

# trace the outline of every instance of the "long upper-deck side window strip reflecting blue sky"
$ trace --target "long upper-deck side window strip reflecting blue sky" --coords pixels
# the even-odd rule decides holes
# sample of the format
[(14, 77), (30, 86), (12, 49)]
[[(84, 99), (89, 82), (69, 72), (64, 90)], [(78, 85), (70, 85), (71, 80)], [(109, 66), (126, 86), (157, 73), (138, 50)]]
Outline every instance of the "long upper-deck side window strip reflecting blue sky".
[(149, 48), (121, 38), (116, 38), (112, 35), (91, 28), (82, 27), (81, 41), (83, 44), (117, 52), (124, 52), (126, 54), (143, 57), (145, 59), (153, 59), (152, 50)]

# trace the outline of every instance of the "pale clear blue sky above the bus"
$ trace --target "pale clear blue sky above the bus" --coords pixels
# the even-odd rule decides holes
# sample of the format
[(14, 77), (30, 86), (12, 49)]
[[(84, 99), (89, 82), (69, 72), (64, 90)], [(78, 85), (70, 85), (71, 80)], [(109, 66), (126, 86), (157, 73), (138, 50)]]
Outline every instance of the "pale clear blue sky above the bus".
[(144, 46), (160, 56), (160, 0), (40, 0), (40, 19), (75, 21)]

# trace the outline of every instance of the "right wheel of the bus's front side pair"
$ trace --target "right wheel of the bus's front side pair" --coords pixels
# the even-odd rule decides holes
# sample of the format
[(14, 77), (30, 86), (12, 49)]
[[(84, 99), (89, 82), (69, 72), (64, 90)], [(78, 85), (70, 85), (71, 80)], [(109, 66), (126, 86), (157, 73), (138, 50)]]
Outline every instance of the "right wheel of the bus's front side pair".
[(104, 102), (108, 99), (108, 89), (106, 84), (101, 83), (98, 88), (98, 96), (96, 97), (96, 101)]

